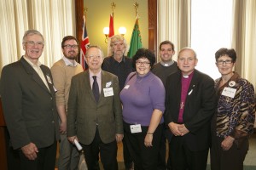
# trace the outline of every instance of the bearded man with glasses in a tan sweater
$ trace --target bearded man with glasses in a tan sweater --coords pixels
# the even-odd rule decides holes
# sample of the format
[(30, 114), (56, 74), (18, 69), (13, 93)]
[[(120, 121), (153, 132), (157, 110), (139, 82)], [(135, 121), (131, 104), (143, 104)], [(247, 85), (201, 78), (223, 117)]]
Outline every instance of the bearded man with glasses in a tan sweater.
[(67, 100), (71, 78), (82, 72), (82, 66), (76, 62), (79, 54), (78, 41), (73, 36), (62, 39), (61, 48), (63, 57), (51, 67), (53, 82), (56, 88), (56, 105), (60, 116), (60, 156), (58, 169), (73, 170), (78, 168), (79, 151), (67, 140)]

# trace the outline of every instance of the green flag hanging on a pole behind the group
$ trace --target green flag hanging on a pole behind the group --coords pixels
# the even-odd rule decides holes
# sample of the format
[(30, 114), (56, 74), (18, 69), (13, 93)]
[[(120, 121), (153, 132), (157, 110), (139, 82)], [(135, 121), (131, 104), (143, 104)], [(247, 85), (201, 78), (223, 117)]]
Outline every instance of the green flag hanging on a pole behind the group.
[(136, 54), (137, 49), (139, 48), (143, 48), (143, 42), (142, 42), (141, 31), (138, 26), (138, 17), (137, 17), (133, 31), (132, 31), (132, 35), (131, 35), (131, 42), (130, 42), (128, 57), (131, 58), (134, 54)]

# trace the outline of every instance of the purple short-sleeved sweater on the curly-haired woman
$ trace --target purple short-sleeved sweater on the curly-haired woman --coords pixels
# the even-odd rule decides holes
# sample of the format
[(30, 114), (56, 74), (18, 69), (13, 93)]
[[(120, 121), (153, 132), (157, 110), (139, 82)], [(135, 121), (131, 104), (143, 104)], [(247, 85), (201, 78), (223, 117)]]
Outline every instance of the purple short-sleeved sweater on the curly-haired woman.
[[(164, 113), (165, 98), (166, 90), (159, 77), (151, 71), (144, 77), (131, 72), (126, 79), (125, 88), (120, 93), (124, 121), (129, 124), (149, 126), (154, 109)], [(162, 122), (164, 122), (163, 117), (160, 123)]]

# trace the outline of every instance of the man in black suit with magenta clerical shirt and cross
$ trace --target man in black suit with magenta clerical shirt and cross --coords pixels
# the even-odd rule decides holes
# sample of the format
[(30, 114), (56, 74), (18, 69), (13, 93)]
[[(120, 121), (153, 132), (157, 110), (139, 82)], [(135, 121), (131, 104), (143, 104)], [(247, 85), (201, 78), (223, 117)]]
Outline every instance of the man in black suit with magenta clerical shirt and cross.
[(172, 169), (207, 168), (210, 122), (215, 110), (214, 81), (195, 70), (192, 48), (177, 56), (180, 71), (166, 80), (165, 122), (174, 135), (169, 144)]

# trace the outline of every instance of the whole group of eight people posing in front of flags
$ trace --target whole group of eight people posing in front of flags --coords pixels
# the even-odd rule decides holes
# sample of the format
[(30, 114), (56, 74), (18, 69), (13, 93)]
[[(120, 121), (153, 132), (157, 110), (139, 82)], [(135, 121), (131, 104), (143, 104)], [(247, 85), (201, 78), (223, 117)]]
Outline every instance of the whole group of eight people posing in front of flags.
[[(170, 41), (160, 43), (160, 62), (140, 48), (125, 56), (125, 38), (111, 38), (112, 55), (90, 46), (88, 70), (76, 62), (79, 43), (62, 39), (62, 59), (49, 69), (39, 62), (44, 37), (25, 32), (25, 54), (3, 67), (0, 94), (10, 143), (20, 169), (77, 169), (77, 140), (89, 170), (118, 170), (117, 143), (123, 142), (125, 169), (204, 170), (210, 149), (212, 170), (241, 170), (253, 133), (253, 85), (236, 71), (236, 51), (215, 54), (221, 77), (197, 71), (195, 50), (177, 54)], [(166, 162), (166, 140), (168, 158)]]

